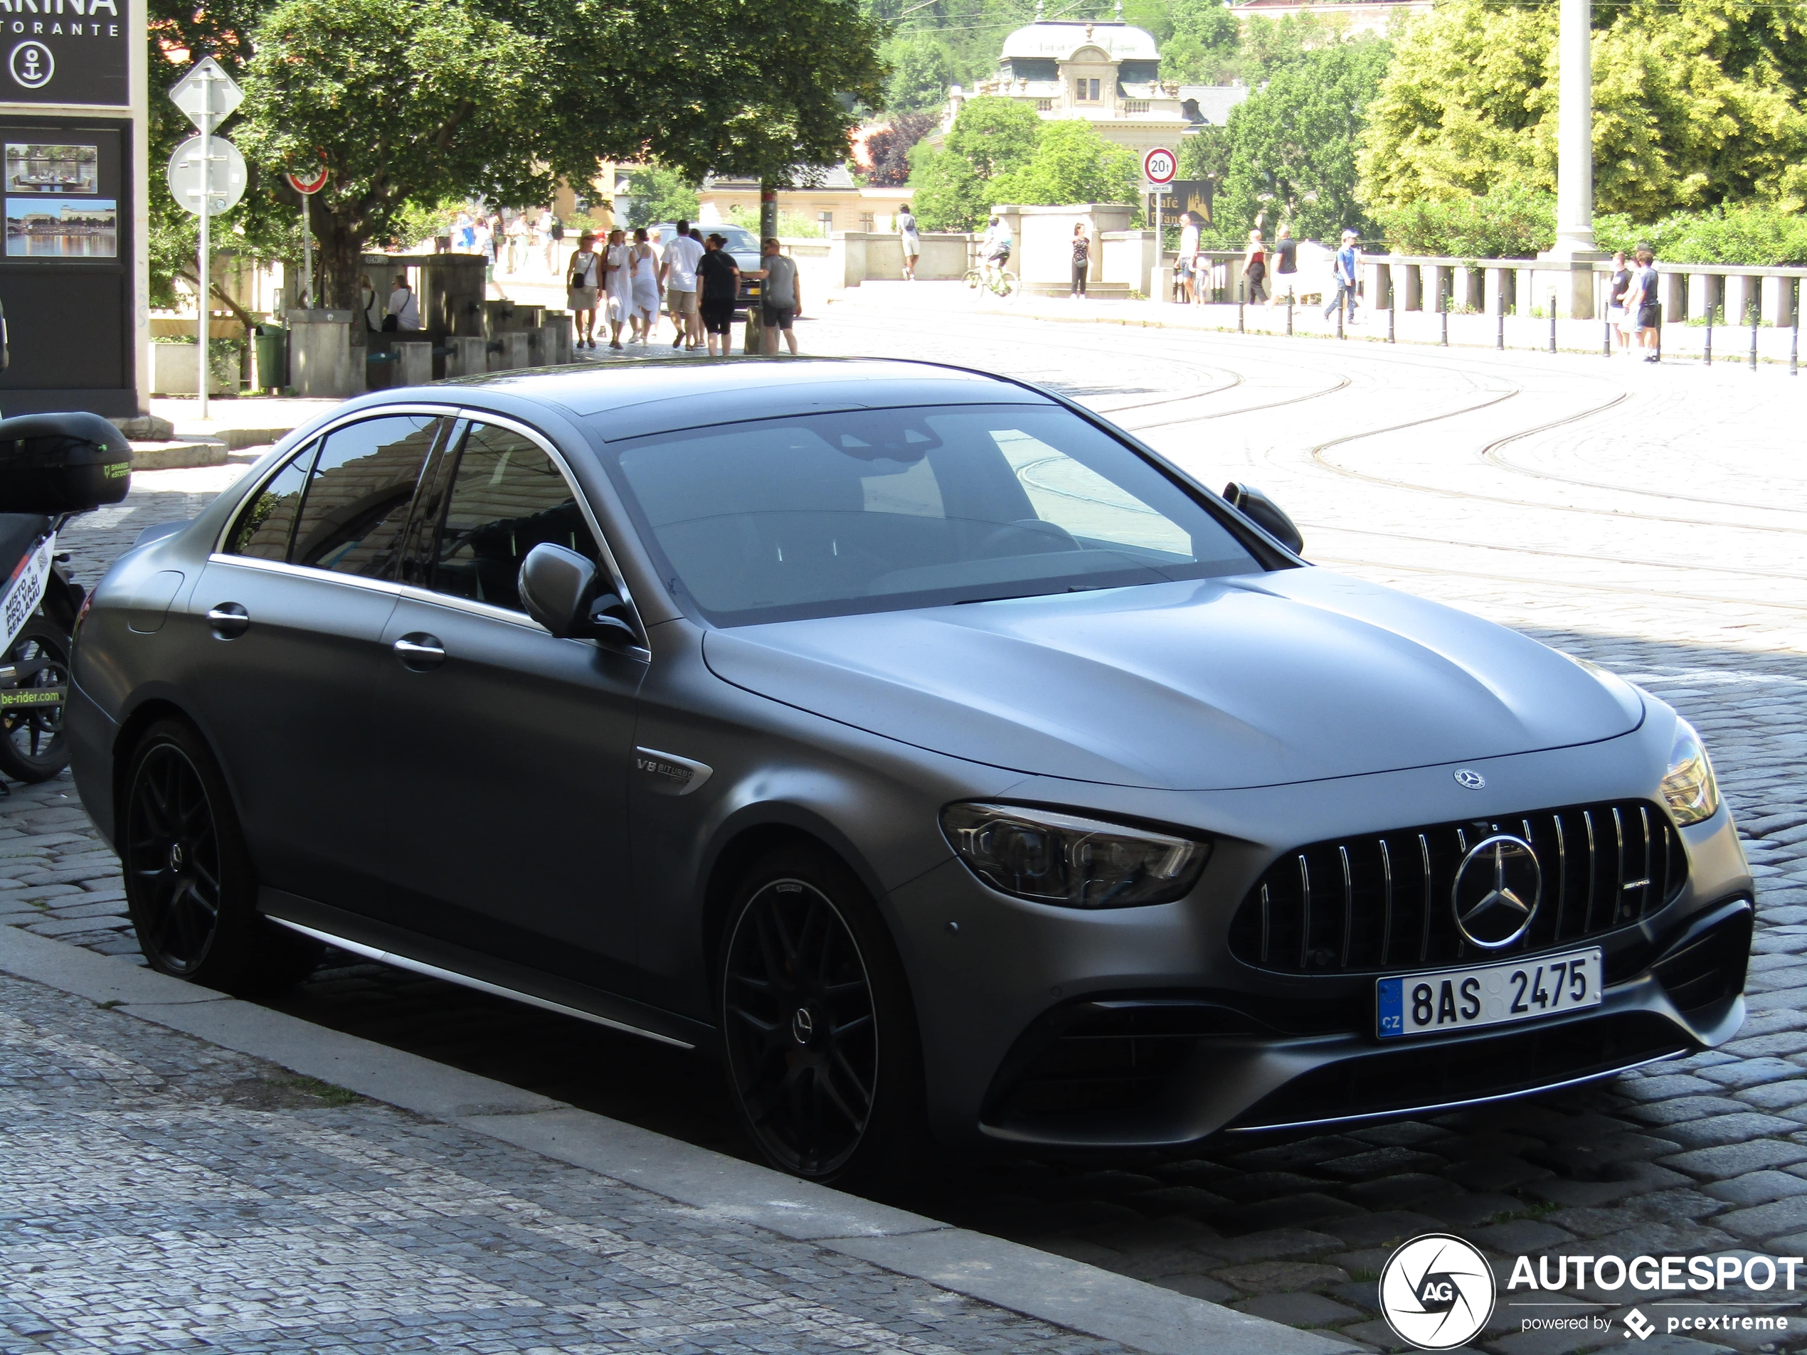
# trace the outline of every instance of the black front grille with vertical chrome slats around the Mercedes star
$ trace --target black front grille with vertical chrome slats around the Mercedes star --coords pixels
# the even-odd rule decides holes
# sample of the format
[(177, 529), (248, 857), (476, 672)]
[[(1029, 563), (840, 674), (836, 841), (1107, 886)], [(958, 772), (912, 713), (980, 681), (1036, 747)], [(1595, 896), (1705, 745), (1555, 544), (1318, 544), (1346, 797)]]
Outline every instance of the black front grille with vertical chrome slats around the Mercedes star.
[[(1543, 892), (1525, 936), (1484, 950), (1456, 930), (1451, 889), (1493, 833), (1538, 853)], [(1276, 860), (1231, 921), (1231, 954), (1278, 974), (1352, 974), (1493, 959), (1601, 936), (1655, 912), (1688, 880), (1670, 818), (1646, 800), (1314, 842)]]

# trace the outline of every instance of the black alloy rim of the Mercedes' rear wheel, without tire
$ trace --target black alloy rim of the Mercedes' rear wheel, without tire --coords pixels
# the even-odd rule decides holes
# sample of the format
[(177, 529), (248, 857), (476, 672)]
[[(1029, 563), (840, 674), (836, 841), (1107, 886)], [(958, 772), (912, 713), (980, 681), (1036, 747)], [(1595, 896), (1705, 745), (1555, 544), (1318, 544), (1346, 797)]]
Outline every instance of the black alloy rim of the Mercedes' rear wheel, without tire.
[(219, 932), (220, 840), (201, 773), (173, 743), (139, 759), (121, 855), (145, 958), (164, 974), (193, 974)]

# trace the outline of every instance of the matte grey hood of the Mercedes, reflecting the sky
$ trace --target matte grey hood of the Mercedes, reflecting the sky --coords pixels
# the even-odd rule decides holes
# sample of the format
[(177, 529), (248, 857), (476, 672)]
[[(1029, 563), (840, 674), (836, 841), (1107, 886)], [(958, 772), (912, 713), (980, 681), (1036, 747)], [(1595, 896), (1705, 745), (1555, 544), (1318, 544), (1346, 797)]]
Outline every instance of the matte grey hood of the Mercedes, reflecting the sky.
[(844, 724), (1043, 777), (1232, 790), (1637, 728), (1626, 683), (1326, 569), (710, 631), (710, 670)]

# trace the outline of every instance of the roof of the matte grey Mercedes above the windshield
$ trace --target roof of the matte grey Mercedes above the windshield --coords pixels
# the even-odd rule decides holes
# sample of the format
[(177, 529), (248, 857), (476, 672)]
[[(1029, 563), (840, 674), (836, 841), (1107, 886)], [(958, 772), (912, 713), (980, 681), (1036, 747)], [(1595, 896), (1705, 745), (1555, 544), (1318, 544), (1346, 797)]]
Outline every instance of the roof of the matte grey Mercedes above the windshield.
[(591, 434), (605, 443), (791, 414), (1055, 403), (1034, 387), (1001, 376), (894, 358), (665, 358), (490, 372), (443, 385), (555, 405), (584, 419)]

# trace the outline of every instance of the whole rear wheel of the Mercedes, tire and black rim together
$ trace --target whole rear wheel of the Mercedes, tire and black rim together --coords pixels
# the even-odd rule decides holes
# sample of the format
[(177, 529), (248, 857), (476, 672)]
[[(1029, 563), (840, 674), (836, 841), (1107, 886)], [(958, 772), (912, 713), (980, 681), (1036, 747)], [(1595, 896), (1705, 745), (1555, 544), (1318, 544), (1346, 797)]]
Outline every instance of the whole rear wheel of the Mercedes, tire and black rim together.
[(161, 974), (233, 994), (287, 988), (322, 947), (257, 911), (226, 777), (192, 724), (145, 732), (125, 777), (119, 860), (139, 950)]

